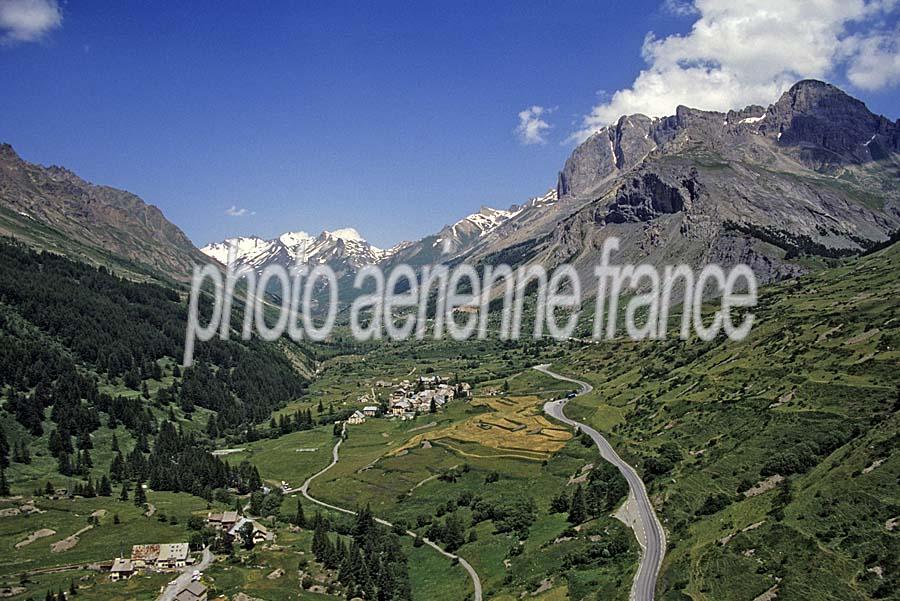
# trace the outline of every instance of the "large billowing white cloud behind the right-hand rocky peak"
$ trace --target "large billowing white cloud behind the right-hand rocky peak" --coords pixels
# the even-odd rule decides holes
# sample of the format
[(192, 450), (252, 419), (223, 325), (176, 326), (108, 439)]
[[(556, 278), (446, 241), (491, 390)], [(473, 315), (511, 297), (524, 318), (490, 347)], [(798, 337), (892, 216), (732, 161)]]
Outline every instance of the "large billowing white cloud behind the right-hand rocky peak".
[[(900, 81), (898, 0), (695, 0), (690, 32), (648, 33), (647, 67), (584, 117), (576, 141), (621, 115), (670, 115), (679, 104), (728, 110), (767, 105), (798, 79), (845, 78), (877, 89)], [(683, 0), (664, 8), (690, 14)]]

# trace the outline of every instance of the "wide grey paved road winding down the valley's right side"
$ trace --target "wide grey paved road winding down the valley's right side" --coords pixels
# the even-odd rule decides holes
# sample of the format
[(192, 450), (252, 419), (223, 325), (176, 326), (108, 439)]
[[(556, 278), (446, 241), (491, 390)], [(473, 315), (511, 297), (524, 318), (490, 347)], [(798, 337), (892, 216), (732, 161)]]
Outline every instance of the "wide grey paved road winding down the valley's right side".
[[(574, 378), (569, 378), (550, 371), (549, 365), (536, 365), (534, 369), (551, 378), (578, 385), (580, 390), (575, 393), (576, 395), (586, 394), (594, 389), (594, 387), (587, 382), (575, 380)], [(650, 504), (650, 498), (647, 496), (647, 487), (644, 485), (644, 481), (641, 480), (641, 477), (638, 476), (635, 469), (619, 457), (619, 454), (612, 448), (609, 441), (607, 441), (599, 432), (588, 425), (577, 422), (574, 419), (569, 419), (565, 416), (563, 411), (567, 402), (568, 399), (548, 401), (544, 403), (544, 412), (563, 423), (569, 424), (570, 426), (577, 426), (582, 432), (586, 432), (600, 449), (600, 456), (616, 466), (619, 471), (622, 472), (625, 480), (628, 481), (630, 496), (635, 500), (641, 528), (647, 539), (646, 546), (644, 546), (643, 553), (641, 554), (641, 563), (638, 566), (638, 571), (634, 576), (634, 582), (632, 582), (631, 585), (630, 598), (632, 601), (652, 601), (656, 590), (656, 577), (659, 574), (659, 568), (662, 565), (663, 557), (666, 554), (666, 534), (663, 531), (662, 524), (659, 523), (659, 518), (656, 517), (653, 505)], [(638, 536), (637, 531), (635, 531), (635, 537), (640, 544), (641, 539)]]

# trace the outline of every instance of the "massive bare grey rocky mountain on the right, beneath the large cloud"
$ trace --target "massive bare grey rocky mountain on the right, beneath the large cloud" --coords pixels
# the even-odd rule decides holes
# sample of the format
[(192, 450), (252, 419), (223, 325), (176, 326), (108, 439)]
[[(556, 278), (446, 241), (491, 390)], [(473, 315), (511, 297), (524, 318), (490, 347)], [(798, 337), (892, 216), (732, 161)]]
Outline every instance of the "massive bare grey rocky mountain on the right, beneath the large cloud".
[[(811, 80), (769, 107), (622, 117), (566, 161), (547, 245), (531, 260), (589, 272), (615, 236), (630, 261), (795, 276), (802, 255), (848, 256), (900, 229), (898, 132), (900, 121)], [(484, 244), (495, 256), (503, 245)]]

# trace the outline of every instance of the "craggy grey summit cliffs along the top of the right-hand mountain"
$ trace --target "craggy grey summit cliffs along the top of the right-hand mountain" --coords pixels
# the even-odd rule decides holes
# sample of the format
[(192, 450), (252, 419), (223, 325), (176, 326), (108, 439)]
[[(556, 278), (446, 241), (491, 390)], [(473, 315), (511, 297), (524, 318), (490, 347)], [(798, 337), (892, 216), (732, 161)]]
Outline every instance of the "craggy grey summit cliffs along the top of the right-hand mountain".
[(729, 157), (743, 152), (736, 150), (742, 145), (767, 152), (757, 144), (759, 136), (805, 167), (824, 172), (900, 151), (900, 122), (873, 114), (831, 84), (807, 79), (768, 108), (751, 105), (721, 113), (681, 105), (669, 117), (620, 117), (572, 151), (559, 173), (557, 192), (560, 197), (593, 196), (609, 178), (635, 168), (654, 151), (678, 154), (700, 144)]

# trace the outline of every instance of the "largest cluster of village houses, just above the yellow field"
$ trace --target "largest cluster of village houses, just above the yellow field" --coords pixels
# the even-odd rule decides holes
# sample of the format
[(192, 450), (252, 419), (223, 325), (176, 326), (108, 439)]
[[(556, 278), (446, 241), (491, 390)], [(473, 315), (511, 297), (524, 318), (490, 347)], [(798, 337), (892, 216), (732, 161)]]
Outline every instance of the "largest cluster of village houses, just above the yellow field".
[[(440, 376), (422, 376), (418, 380), (403, 380), (399, 384), (379, 380), (375, 382), (377, 388), (393, 388), (387, 403), (386, 416), (401, 420), (414, 419), (420, 413), (428, 413), (434, 408), (440, 410), (444, 405), (457, 396), (469, 396), (472, 387), (468, 383), (451, 386), (445, 378)], [(377, 417), (382, 413), (379, 405), (374, 404), (375, 399), (369, 395), (359, 397), (358, 401), (364, 405), (361, 410), (353, 412), (347, 419), (348, 424), (361, 424), (369, 417)]]

